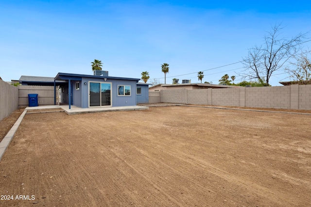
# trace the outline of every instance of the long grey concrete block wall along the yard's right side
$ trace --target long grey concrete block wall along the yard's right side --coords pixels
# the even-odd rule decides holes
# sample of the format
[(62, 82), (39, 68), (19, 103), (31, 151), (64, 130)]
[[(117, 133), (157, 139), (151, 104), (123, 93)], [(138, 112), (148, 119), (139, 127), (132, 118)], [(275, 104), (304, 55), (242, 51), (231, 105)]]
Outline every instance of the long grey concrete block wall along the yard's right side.
[[(311, 85), (175, 89), (149, 92), (149, 102), (311, 110)], [(159, 96), (157, 99), (151, 98)], [(151, 102), (153, 101), (153, 102)]]

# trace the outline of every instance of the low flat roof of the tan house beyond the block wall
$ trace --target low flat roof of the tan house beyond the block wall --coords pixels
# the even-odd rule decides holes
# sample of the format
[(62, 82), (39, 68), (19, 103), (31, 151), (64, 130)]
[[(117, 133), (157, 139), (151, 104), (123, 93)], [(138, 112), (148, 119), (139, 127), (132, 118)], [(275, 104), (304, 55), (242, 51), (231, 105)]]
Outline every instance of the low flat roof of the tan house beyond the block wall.
[(196, 88), (238, 88), (241, 86), (235, 86), (235, 85), (218, 85), (218, 84), (209, 84), (209, 83), (178, 83), (178, 84), (157, 84), (150, 86), (149, 89), (152, 90), (153, 88), (163, 88), (167, 89), (168, 87), (189, 87), (189, 86), (195, 86)]

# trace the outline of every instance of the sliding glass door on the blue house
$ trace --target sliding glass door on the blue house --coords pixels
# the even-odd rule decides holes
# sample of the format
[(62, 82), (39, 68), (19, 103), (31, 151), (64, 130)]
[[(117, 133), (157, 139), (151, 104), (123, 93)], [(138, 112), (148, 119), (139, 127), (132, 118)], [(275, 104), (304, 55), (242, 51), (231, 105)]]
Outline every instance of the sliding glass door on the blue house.
[(111, 106), (111, 83), (89, 82), (89, 106)]

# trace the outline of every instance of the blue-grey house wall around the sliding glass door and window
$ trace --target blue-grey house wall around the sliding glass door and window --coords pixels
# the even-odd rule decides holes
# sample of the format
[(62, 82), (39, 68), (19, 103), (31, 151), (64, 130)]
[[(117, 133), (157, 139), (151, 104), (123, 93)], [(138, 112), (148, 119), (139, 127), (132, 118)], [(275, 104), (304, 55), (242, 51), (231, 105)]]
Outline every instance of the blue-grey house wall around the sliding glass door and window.
[[(86, 82), (86, 85), (84, 84)], [(88, 108), (89, 101), (89, 91), (88, 85), (89, 82), (105, 82), (111, 83), (111, 106), (136, 106), (136, 80), (116, 80), (109, 79), (105, 81), (103, 78), (86, 78), (82, 77), (80, 84), (80, 94), (81, 99), (81, 108)], [(131, 95), (130, 96), (118, 96), (118, 85), (129, 85), (131, 86)]]

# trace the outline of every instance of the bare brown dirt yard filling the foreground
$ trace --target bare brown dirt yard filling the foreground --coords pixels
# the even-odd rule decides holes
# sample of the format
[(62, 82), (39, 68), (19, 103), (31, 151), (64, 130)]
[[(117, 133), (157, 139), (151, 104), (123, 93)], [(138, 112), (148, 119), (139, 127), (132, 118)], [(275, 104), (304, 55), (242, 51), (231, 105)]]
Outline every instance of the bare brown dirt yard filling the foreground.
[(308, 207), (310, 126), (185, 106), (26, 114), (0, 161), (0, 206)]

